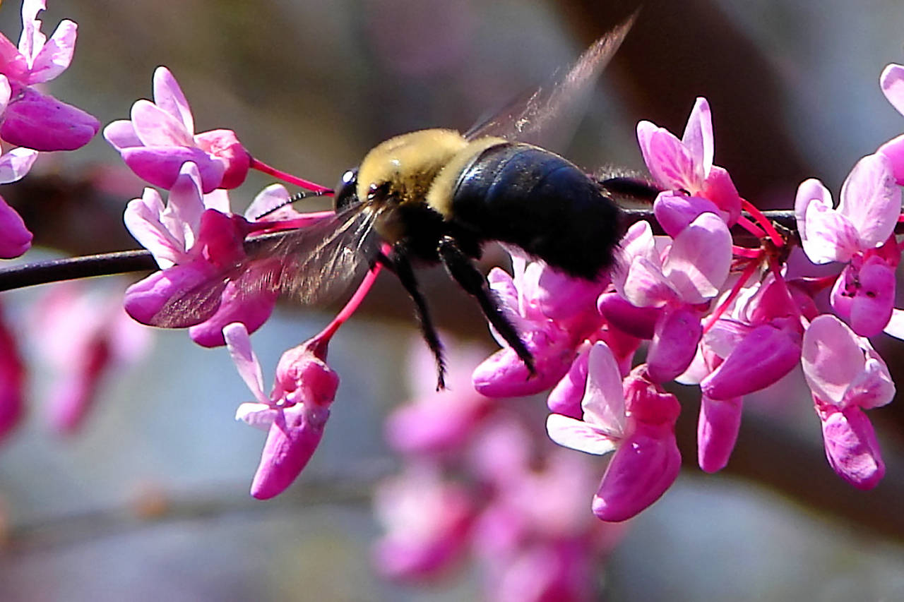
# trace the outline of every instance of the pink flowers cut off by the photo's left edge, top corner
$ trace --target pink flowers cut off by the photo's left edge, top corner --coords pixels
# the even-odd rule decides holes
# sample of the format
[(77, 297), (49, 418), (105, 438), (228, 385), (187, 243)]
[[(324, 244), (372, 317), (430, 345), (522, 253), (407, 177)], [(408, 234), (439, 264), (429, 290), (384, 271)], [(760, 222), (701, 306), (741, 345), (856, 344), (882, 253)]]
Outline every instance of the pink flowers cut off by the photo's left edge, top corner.
[[(0, 183), (23, 178), (39, 152), (85, 146), (100, 127), (85, 111), (38, 89), (66, 71), (75, 50), (71, 21), (61, 21), (50, 40), (41, 33), (37, 14), (46, 6), (46, 0), (23, 0), (18, 46), (0, 34), (0, 140), (14, 146), (0, 155)], [(19, 257), (31, 245), (32, 233), (0, 198), (0, 258)]]

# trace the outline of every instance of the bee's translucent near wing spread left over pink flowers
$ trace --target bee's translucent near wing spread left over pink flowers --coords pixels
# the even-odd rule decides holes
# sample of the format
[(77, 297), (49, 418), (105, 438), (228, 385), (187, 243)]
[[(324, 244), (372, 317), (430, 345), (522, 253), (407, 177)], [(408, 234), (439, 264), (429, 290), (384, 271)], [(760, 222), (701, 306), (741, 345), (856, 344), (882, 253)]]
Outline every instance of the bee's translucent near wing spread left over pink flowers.
[(248, 259), (170, 296), (151, 324), (184, 328), (202, 323), (231, 302), (277, 294), (311, 305), (340, 295), (370, 267), (380, 249), (376, 213), (354, 205), (324, 221), (256, 245)]

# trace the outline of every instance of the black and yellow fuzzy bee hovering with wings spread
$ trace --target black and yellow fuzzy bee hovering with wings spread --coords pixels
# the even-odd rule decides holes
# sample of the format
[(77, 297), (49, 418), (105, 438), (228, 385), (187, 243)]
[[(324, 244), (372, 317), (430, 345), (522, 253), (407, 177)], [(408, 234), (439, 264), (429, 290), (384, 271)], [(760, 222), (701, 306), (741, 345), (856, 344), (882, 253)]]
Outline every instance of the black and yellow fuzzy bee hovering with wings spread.
[[(633, 19), (595, 42), (550, 86), (516, 99), (464, 134), (424, 129), (373, 147), (336, 186), (334, 217), (294, 230), (203, 286), (174, 296), (153, 322), (202, 322), (216, 311), (230, 282), (239, 294), (272, 291), (305, 304), (323, 301), (379, 261), (414, 302), (441, 389), (442, 345), (412, 268), (441, 263), (533, 373), (530, 351), (474, 260), (486, 242), (498, 241), (573, 277), (596, 280), (611, 267), (620, 230), (612, 194), (634, 184), (599, 180), (527, 140), (596, 80)], [(381, 252), (384, 243), (391, 252)]]

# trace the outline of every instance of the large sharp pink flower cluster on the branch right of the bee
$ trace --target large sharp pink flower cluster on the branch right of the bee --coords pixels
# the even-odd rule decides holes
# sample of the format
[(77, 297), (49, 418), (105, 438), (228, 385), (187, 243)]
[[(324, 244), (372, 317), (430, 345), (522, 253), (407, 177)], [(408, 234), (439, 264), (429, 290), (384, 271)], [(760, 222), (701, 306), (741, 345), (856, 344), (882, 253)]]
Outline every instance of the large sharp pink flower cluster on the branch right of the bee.
[[(902, 74), (904, 67), (891, 66), (882, 76), (899, 109)], [(631, 226), (611, 281), (598, 285), (563, 282), (551, 268), (521, 258), (513, 259), (513, 277), (494, 269), (492, 287), (518, 316), (539, 375), (526, 380), (506, 348), (478, 366), (476, 389), (506, 396), (554, 384), (549, 435), (590, 454), (614, 452), (592, 509), (602, 520), (621, 521), (654, 503), (678, 475), (674, 424), (681, 405), (662, 389), (666, 381), (699, 385), (698, 463), (714, 472), (729, 461), (744, 396), (800, 365), (829, 464), (856, 487), (875, 486), (885, 467), (863, 410), (890, 402), (895, 388), (866, 337), (883, 330), (904, 337), (895, 319), (900, 310), (892, 307), (901, 253), (900, 140), (854, 166), (837, 208), (821, 183), (801, 184), (795, 211), (805, 255), (839, 266), (832, 276), (810, 277), (783, 264), (789, 240), (712, 165), (705, 99), (697, 100), (681, 139), (646, 121), (637, 138), (664, 189), (654, 215), (667, 235), (654, 236), (646, 222)], [(757, 236), (761, 247), (733, 245), (732, 226)], [(821, 307), (815, 295), (828, 287), (831, 307)], [(642, 341), (649, 342), (645, 362), (632, 368)]]

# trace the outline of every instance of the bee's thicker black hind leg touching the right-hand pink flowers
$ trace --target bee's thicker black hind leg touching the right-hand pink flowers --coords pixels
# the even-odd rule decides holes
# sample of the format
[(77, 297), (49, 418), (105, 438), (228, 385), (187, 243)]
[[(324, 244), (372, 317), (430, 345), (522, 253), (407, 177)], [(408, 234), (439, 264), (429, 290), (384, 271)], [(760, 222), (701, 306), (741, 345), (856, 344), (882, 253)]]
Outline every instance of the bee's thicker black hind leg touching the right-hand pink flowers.
[(458, 285), (465, 289), (466, 293), (476, 297), (477, 303), (480, 304), (480, 309), (484, 312), (490, 325), (493, 325), (496, 332), (503, 337), (505, 343), (509, 343), (514, 353), (517, 353), (524, 365), (527, 366), (527, 370), (532, 375), (536, 375), (537, 371), (533, 367), (531, 352), (524, 346), (521, 337), (518, 336), (518, 331), (515, 330), (509, 319), (505, 317), (499, 307), (499, 303), (496, 301), (496, 297), (486, 283), (486, 278), (474, 266), (474, 263), (464, 251), (459, 249), (457, 241), (451, 236), (444, 236), (439, 240), (437, 253), (443, 265), (446, 266), (449, 276), (455, 279)]

